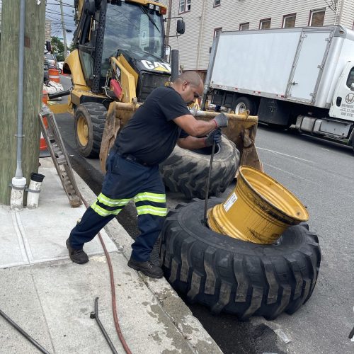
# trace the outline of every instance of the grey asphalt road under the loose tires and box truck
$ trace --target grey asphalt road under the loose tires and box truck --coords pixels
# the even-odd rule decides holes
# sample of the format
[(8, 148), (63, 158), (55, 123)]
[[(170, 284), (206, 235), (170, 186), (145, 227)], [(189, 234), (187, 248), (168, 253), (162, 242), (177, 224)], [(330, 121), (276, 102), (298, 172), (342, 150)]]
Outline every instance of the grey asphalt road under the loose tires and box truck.
[[(98, 194), (103, 179), (98, 160), (77, 154), (71, 115), (57, 115), (57, 122), (72, 166)], [(293, 132), (274, 132), (265, 125), (258, 127), (256, 142), (265, 172), (307, 205), (309, 227), (319, 235), (322, 261), (314, 293), (295, 314), (281, 314), (273, 321), (213, 316), (198, 304), (190, 309), (224, 353), (353, 353), (354, 342), (348, 338), (354, 325), (353, 150)], [(167, 194), (169, 208), (178, 202), (185, 202), (182, 195)], [(137, 235), (132, 205), (118, 221), (133, 238)], [(290, 342), (275, 334), (276, 329)]]

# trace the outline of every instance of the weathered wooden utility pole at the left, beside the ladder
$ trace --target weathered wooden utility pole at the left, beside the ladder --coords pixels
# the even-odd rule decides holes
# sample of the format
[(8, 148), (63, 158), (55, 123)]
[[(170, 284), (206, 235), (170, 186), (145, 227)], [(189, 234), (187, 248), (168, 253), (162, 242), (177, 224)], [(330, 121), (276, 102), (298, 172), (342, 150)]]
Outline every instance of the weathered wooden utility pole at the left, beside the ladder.
[[(0, 42), (0, 204), (9, 205), (8, 186), (16, 173), (18, 110), (18, 38), (20, 1), (3, 0)], [(23, 176), (38, 172), (45, 45), (45, 1), (25, 1), (23, 63)]]

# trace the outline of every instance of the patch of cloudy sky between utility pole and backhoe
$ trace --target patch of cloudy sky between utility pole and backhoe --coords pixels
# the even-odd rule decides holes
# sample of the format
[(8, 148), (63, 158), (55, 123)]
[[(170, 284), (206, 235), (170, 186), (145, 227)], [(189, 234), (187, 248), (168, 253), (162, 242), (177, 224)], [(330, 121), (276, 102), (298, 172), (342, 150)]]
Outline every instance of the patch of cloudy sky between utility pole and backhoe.
[[(67, 46), (72, 43), (74, 37), (75, 23), (74, 23), (74, 0), (62, 0), (64, 24), (67, 30), (72, 30), (72, 33), (66, 32)], [(45, 19), (52, 21), (52, 36), (60, 38), (63, 42), (62, 16), (60, 13), (59, 0), (47, 0), (45, 8)]]

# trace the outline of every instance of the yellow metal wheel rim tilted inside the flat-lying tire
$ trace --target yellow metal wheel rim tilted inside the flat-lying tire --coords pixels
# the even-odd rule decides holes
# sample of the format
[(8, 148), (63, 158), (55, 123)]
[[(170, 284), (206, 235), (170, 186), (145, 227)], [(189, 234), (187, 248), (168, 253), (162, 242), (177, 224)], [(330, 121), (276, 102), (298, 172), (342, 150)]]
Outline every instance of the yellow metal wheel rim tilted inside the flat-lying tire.
[(309, 219), (295, 195), (249, 166), (240, 167), (234, 191), (207, 214), (210, 229), (255, 244), (274, 244), (287, 227)]

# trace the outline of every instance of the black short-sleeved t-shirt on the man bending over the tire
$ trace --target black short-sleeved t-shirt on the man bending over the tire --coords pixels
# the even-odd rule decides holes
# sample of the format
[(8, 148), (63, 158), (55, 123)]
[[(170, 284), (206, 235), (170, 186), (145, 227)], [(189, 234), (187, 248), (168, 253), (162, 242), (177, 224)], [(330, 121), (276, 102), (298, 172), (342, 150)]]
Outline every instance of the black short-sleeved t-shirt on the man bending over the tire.
[(131, 154), (150, 165), (159, 164), (169, 157), (178, 137), (187, 135), (173, 122), (186, 114), (190, 112), (176, 90), (154, 89), (118, 134), (118, 152)]

